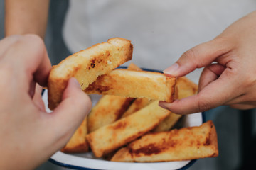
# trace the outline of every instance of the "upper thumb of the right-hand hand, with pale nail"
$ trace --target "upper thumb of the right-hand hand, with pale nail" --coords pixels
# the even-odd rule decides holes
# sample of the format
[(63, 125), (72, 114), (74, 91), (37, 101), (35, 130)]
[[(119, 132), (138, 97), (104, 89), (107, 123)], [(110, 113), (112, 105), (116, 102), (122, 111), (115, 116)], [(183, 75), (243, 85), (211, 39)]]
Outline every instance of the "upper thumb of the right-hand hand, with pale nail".
[(178, 61), (165, 69), (164, 74), (171, 77), (182, 77), (193, 70), (205, 67), (217, 57), (228, 52), (228, 43), (224, 38), (215, 38), (209, 42), (191, 48), (181, 55)]

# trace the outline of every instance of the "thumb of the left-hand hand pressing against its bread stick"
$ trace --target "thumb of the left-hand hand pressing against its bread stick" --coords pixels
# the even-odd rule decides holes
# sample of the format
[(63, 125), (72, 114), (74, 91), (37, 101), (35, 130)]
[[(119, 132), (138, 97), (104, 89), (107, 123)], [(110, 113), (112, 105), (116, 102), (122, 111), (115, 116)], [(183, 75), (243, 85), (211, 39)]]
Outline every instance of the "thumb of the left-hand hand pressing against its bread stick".
[[(62, 139), (60, 142), (63, 144), (68, 142), (68, 137), (82, 123), (91, 107), (92, 102), (89, 96), (81, 90), (80, 84), (75, 78), (70, 78), (61, 103), (52, 113), (53, 135)], [(58, 135), (56, 136), (56, 134)]]

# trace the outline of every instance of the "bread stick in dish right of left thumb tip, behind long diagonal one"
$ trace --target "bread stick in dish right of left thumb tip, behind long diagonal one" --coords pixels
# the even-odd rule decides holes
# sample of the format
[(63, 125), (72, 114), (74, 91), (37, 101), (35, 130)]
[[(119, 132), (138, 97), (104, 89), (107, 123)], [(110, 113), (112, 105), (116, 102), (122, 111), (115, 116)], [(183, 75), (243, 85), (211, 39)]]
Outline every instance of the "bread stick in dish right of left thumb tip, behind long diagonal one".
[(114, 123), (121, 118), (124, 111), (134, 101), (134, 98), (122, 96), (102, 96), (88, 115), (88, 130), (93, 132), (98, 128)]

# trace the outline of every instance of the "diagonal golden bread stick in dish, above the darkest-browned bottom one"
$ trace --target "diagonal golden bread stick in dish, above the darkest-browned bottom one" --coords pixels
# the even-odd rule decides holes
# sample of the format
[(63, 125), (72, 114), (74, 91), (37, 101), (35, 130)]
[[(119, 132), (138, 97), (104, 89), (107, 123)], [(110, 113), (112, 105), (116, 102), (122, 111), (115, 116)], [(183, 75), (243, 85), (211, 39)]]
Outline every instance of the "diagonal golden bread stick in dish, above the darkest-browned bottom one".
[(158, 103), (155, 101), (126, 118), (88, 134), (87, 141), (95, 157), (102, 157), (156, 127), (170, 113)]

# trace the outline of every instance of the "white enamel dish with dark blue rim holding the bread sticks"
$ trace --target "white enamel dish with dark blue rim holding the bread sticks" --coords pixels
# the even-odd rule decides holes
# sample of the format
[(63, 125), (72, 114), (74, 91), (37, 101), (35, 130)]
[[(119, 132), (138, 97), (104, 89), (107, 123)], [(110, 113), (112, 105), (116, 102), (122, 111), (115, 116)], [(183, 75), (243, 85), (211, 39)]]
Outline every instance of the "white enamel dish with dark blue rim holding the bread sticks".
[[(92, 95), (92, 104), (95, 104), (99, 99), (99, 95)], [(48, 109), (47, 90), (43, 93), (43, 101), (46, 105), (46, 111)], [(194, 113), (191, 115), (183, 116), (180, 121), (180, 126), (198, 126), (201, 125), (204, 120), (204, 113)], [(182, 125), (181, 125), (182, 124)], [(126, 170), (126, 169), (188, 169), (196, 160), (180, 161), (180, 162), (154, 162), (154, 163), (127, 163), (127, 162), (110, 162), (103, 159), (98, 159), (93, 156), (92, 152), (85, 154), (65, 154), (63, 152), (56, 152), (49, 159), (53, 164), (63, 166), (69, 169), (112, 169), (112, 170)]]

